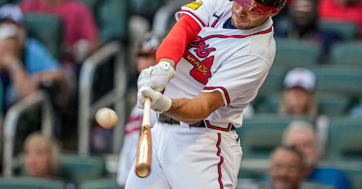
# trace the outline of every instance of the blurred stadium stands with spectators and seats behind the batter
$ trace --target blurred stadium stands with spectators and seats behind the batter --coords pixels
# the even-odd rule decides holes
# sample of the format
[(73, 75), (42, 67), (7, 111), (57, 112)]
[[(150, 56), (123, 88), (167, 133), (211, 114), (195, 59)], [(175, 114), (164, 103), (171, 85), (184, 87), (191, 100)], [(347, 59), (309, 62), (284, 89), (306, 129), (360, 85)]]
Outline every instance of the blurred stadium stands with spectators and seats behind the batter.
[[(190, 2), (0, 0), (0, 188), (123, 188), (138, 73)], [(273, 66), (236, 130), (237, 188), (362, 189), (362, 1), (288, 0), (273, 21)]]

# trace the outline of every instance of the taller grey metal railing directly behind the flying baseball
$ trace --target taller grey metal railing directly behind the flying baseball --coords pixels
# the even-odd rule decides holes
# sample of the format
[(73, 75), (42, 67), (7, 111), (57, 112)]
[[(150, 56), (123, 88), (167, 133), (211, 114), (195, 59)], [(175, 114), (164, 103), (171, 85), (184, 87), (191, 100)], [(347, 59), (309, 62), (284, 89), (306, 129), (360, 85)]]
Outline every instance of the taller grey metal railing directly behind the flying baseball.
[[(114, 86), (111, 91), (92, 103), (92, 83), (94, 74), (101, 65), (110, 63), (115, 57), (114, 64)], [(93, 53), (83, 63), (79, 76), (79, 108), (78, 108), (78, 153), (82, 156), (89, 155), (90, 126), (94, 120), (96, 111), (102, 107), (114, 104), (114, 111), (118, 114), (118, 123), (113, 129), (113, 153), (121, 151), (124, 124), (125, 124), (125, 91), (126, 91), (126, 68), (124, 61), (124, 50), (119, 42), (110, 42)]]

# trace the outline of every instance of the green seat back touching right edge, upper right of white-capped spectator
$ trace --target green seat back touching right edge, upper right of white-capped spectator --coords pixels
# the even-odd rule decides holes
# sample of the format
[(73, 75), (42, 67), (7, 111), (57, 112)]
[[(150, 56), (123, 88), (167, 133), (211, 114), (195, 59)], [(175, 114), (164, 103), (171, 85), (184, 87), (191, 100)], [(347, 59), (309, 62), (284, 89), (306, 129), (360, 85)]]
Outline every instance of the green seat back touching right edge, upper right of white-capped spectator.
[(330, 61), (333, 64), (362, 66), (362, 42), (334, 44)]

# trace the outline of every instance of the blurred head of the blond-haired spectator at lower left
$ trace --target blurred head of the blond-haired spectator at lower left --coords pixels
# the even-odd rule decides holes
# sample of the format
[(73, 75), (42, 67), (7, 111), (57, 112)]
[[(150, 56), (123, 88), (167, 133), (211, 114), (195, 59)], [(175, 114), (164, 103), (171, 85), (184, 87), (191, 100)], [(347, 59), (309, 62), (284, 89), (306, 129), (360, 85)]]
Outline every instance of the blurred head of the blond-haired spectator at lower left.
[(59, 146), (56, 141), (35, 132), (24, 142), (24, 166), (30, 176), (56, 177), (59, 175)]

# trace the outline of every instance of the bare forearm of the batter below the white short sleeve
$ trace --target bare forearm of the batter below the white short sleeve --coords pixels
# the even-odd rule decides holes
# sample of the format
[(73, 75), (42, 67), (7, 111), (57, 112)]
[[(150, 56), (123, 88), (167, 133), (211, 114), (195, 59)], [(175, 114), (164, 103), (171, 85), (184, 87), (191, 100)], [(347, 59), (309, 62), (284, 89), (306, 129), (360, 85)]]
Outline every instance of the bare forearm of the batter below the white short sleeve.
[(202, 103), (200, 99), (196, 98), (172, 99), (171, 108), (164, 113), (187, 124), (193, 124), (197, 121), (201, 121), (210, 114), (204, 106), (204, 103)]

